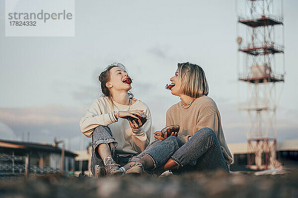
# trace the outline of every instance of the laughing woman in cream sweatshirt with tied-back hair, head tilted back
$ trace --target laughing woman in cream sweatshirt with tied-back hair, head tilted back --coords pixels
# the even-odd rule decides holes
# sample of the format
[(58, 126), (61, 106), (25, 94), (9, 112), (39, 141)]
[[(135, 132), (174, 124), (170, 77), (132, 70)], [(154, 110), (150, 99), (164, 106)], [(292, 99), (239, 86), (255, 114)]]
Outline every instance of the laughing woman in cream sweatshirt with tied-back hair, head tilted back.
[[(121, 63), (109, 65), (98, 79), (103, 96), (93, 101), (79, 126), (86, 137), (92, 137), (92, 174), (121, 175), (125, 172), (121, 166), (149, 145), (151, 114), (149, 107), (129, 92), (132, 81)], [(138, 119), (142, 114), (147, 116), (145, 123)]]

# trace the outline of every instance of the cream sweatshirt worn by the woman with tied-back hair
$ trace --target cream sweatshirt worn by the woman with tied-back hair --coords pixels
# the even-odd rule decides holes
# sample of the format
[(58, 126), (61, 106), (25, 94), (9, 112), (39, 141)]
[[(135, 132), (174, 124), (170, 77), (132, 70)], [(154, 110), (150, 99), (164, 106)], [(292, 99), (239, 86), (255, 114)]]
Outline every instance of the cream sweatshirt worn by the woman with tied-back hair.
[[(115, 102), (111, 103), (108, 97), (95, 99), (87, 110), (84, 117), (79, 121), (81, 132), (88, 138), (92, 136), (94, 128), (102, 125), (111, 129), (113, 138), (118, 142), (117, 154), (127, 156), (129, 154), (141, 153), (148, 145), (151, 137), (151, 113), (149, 107), (137, 100), (130, 107), (130, 110), (144, 110), (147, 115), (147, 122), (139, 129), (132, 130), (129, 121), (123, 118), (117, 119), (114, 111), (127, 111), (129, 105)], [(119, 109), (118, 109), (119, 108)]]

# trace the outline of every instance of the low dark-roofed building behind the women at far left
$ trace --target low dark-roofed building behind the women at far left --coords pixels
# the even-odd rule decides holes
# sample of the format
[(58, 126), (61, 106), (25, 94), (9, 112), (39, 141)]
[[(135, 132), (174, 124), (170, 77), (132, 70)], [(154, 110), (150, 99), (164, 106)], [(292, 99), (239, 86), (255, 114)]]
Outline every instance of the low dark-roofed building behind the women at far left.
[[(76, 154), (64, 151), (63, 173), (74, 171)], [(62, 149), (46, 143), (0, 140), (0, 175), (60, 173)]]

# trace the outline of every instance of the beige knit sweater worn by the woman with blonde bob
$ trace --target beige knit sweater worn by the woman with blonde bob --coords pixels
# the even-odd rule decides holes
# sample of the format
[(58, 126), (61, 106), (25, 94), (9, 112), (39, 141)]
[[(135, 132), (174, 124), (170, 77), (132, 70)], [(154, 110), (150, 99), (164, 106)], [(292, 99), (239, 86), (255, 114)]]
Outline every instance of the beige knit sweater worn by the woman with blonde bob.
[(184, 109), (181, 102), (172, 105), (166, 112), (166, 126), (180, 125), (178, 138), (187, 142), (198, 130), (209, 127), (218, 137), (227, 164), (232, 163), (232, 155), (226, 145), (221, 123), (220, 111), (213, 99), (202, 96), (194, 100), (192, 105)]

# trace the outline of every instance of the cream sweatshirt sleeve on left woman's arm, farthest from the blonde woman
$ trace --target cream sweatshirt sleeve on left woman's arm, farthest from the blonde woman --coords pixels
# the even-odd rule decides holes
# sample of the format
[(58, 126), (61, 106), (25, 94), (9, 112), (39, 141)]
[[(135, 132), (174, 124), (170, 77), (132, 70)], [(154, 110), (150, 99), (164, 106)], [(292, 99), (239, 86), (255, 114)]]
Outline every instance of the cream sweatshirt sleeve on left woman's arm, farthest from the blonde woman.
[(102, 114), (100, 105), (102, 104), (99, 103), (98, 99), (95, 99), (91, 104), (91, 107), (87, 110), (85, 116), (79, 121), (79, 128), (81, 132), (88, 138), (92, 136), (94, 128), (97, 126), (108, 126), (109, 124), (118, 121), (114, 111)]

